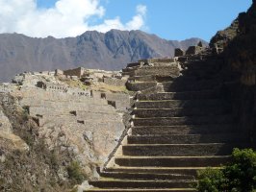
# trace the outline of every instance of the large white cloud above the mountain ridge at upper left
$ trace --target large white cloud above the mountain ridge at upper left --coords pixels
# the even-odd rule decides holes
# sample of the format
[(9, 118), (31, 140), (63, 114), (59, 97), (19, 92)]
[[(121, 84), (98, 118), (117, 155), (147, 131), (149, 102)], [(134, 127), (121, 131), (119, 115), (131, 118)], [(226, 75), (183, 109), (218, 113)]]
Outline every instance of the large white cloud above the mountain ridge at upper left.
[[(0, 0), (0, 33), (27, 36), (79, 36), (89, 30), (107, 32), (111, 29), (139, 30), (145, 25), (146, 7), (137, 6), (136, 15), (127, 23), (116, 16), (105, 19), (100, 0), (58, 0), (55, 7), (38, 9), (36, 0)], [(90, 25), (91, 17), (103, 23)]]

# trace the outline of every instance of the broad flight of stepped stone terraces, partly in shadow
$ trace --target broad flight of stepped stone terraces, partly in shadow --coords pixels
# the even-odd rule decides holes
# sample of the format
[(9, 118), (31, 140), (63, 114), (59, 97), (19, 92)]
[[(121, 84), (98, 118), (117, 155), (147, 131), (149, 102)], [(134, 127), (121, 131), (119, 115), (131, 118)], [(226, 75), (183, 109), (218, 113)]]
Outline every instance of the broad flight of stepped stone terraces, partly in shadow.
[(248, 146), (221, 96), (221, 60), (178, 60), (182, 71), (172, 63), (125, 69), (128, 87), (141, 90), (132, 127), (87, 191), (196, 191), (196, 171), (218, 168), (234, 147)]

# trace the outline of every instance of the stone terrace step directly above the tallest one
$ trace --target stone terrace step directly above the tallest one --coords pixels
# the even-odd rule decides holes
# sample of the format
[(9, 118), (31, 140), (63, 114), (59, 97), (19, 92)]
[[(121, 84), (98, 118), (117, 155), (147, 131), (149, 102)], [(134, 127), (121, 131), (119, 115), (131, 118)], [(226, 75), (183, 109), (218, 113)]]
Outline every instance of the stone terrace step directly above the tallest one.
[(248, 138), (239, 133), (225, 134), (159, 134), (128, 135), (128, 144), (195, 144), (245, 142)]

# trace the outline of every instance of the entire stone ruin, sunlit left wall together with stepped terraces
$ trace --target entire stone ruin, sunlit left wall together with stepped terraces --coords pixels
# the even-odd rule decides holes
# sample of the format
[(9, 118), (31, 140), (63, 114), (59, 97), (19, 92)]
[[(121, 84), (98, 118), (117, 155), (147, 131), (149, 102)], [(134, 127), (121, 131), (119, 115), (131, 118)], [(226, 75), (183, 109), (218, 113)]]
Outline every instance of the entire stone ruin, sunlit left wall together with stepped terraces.
[[(220, 168), (234, 148), (256, 144), (255, 90), (243, 89), (255, 85), (254, 68), (239, 79), (220, 45), (199, 42), (121, 73), (25, 72), (1, 84), (0, 94), (18, 98), (49, 149), (83, 165), (85, 191), (195, 191), (198, 170)], [(1, 108), (0, 137), (29, 150)]]

